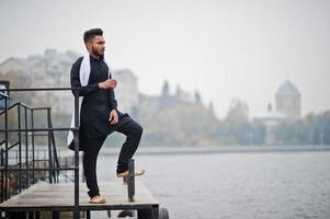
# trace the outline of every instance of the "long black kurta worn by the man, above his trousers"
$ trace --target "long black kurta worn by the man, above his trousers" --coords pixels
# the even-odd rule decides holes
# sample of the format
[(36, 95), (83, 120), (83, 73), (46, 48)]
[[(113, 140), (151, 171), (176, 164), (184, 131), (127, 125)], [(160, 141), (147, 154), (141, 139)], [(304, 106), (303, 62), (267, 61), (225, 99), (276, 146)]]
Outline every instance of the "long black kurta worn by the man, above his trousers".
[[(95, 138), (110, 135), (118, 124), (111, 125), (109, 122), (110, 112), (117, 110), (113, 89), (100, 89), (99, 83), (111, 78), (109, 67), (103, 57), (95, 59), (90, 56), (91, 72), (88, 85), (81, 87), (79, 70), (82, 62), (80, 57), (71, 68), (71, 87), (80, 88), (79, 95), (83, 96), (80, 110), (80, 137)], [(129, 118), (128, 114), (118, 112), (120, 124)], [(81, 139), (81, 138), (80, 138)], [(83, 149), (83, 142), (81, 142)]]

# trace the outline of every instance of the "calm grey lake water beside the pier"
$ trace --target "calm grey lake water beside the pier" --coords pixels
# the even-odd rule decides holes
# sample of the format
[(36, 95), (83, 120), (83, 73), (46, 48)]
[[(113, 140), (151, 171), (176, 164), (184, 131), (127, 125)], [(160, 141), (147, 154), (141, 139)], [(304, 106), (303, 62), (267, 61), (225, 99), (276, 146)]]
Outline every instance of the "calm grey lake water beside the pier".
[[(117, 157), (98, 161), (116, 181)], [(330, 151), (136, 155), (139, 177), (171, 219), (330, 218)], [(102, 191), (101, 191), (102, 194)]]

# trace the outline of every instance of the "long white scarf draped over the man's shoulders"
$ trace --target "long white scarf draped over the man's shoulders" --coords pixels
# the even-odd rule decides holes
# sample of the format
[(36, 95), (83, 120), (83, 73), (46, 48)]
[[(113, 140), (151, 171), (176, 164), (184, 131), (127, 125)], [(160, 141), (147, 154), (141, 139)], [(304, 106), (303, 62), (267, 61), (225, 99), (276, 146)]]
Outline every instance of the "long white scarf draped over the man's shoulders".
[[(105, 61), (105, 59), (104, 59)], [(105, 61), (105, 64), (107, 65), (107, 61)], [(110, 67), (107, 65), (109, 68), (109, 76), (110, 77)], [(84, 54), (81, 65), (80, 65), (80, 69), (79, 69), (79, 79), (80, 79), (80, 84), (81, 87), (86, 87), (88, 85), (88, 81), (90, 79), (90, 73), (91, 73), (91, 61), (90, 61), (90, 54)], [(80, 115), (80, 108), (81, 108), (81, 103), (82, 103), (83, 96), (79, 96), (79, 114)], [(80, 116), (79, 116), (80, 119)], [(75, 128), (75, 104), (73, 104), (73, 108), (72, 108), (72, 118), (71, 118), (71, 125), (70, 128)], [(67, 143), (68, 146), (72, 142), (73, 140), (73, 132), (71, 130), (69, 130), (68, 134), (68, 138), (67, 138)]]

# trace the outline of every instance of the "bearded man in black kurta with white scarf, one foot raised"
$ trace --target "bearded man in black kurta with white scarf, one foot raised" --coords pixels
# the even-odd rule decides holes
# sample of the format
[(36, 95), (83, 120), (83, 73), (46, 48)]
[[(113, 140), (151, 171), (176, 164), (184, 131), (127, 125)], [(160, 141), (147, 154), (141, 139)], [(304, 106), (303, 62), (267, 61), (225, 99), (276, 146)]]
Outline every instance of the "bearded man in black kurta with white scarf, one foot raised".
[[(96, 159), (99, 151), (113, 131), (126, 135), (117, 161), (117, 176), (128, 175), (127, 162), (130, 159), (141, 138), (143, 128), (128, 114), (117, 110), (114, 89), (117, 81), (111, 78), (109, 66), (104, 60), (105, 41), (101, 28), (92, 28), (83, 34), (83, 42), (88, 54), (72, 65), (71, 87), (79, 88), (79, 95), (83, 96), (80, 106), (79, 142), (83, 151), (83, 171), (89, 189), (89, 201), (92, 204), (105, 203), (100, 196), (96, 178)], [(69, 141), (73, 149), (73, 141)], [(136, 175), (144, 174), (137, 170)]]

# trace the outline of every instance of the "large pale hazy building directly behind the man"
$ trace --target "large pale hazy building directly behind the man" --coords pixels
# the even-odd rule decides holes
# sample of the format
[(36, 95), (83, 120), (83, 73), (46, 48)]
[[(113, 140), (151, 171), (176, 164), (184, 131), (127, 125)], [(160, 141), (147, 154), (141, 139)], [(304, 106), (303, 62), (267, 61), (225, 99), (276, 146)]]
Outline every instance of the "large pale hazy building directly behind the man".
[[(9, 58), (0, 64), (0, 72), (26, 76), (32, 83), (25, 88), (70, 87), (70, 69), (79, 54), (75, 51), (59, 53), (46, 49), (43, 56), (33, 55), (27, 58)], [(118, 108), (130, 113), (138, 104), (137, 78), (128, 69), (114, 70), (112, 77), (118, 81), (115, 96)], [(50, 105), (53, 113), (71, 114), (73, 96), (71, 92), (35, 92), (33, 105)]]

